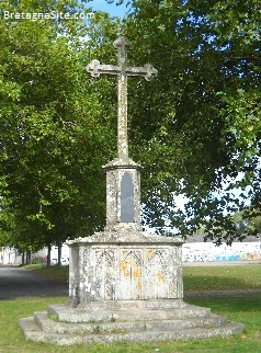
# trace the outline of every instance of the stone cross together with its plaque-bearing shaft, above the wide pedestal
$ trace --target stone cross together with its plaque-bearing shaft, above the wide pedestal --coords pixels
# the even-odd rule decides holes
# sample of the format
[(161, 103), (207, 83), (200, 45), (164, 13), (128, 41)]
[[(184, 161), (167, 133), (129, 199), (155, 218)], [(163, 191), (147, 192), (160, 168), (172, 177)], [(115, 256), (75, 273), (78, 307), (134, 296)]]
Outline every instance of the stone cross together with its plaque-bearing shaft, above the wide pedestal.
[(92, 77), (101, 73), (117, 76), (117, 158), (107, 163), (106, 170), (106, 227), (140, 230), (140, 169), (128, 158), (127, 136), (127, 77), (139, 76), (150, 81), (157, 70), (149, 64), (143, 67), (127, 66), (129, 42), (120, 36), (113, 43), (117, 50), (117, 65), (104, 65), (94, 59), (87, 66)]

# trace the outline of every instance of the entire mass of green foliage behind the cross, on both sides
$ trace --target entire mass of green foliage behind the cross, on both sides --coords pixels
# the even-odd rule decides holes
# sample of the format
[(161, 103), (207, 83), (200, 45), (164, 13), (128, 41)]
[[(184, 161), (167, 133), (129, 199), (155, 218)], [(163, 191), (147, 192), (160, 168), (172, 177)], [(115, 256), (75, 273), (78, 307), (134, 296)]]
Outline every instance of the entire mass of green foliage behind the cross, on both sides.
[[(120, 32), (132, 42), (130, 65), (158, 69), (154, 82), (132, 78), (128, 91), (130, 155), (145, 167), (144, 223), (161, 234), (204, 227), (206, 237), (230, 243), (239, 236), (231, 215), (247, 203), (261, 209), (260, 1), (130, 4), (122, 23), (104, 12), (88, 25), (0, 18), (2, 243), (34, 250), (103, 227), (115, 78), (94, 80), (84, 66), (114, 64)], [(73, 1), (9, 7), (90, 11)]]

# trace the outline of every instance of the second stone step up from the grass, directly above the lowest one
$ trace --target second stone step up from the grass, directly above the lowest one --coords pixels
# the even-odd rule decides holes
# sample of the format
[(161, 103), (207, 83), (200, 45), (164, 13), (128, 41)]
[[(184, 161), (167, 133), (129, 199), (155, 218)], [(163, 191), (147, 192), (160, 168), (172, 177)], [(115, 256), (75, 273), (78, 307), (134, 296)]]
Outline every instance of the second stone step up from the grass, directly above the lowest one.
[(152, 321), (132, 321), (132, 322), (100, 322), (100, 323), (67, 323), (52, 320), (45, 311), (36, 311), (34, 320), (44, 332), (57, 333), (126, 333), (143, 331), (169, 331), (183, 330), (193, 327), (214, 328), (227, 323), (227, 318), (211, 314), (207, 318), (194, 318), (183, 320), (152, 320)]

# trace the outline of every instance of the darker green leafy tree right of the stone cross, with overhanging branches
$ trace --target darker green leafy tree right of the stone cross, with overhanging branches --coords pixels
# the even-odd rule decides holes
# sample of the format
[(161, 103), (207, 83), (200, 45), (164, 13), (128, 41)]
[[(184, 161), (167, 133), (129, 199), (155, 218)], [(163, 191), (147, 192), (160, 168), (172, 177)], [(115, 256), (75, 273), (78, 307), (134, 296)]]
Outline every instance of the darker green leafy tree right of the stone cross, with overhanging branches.
[[(230, 215), (260, 207), (260, 1), (132, 1), (123, 33), (155, 84), (132, 80), (132, 153), (146, 223), (230, 243)], [(138, 89), (137, 89), (138, 88)], [(240, 198), (235, 189), (242, 190)], [(246, 191), (246, 193), (243, 193)], [(173, 194), (184, 194), (185, 213)]]

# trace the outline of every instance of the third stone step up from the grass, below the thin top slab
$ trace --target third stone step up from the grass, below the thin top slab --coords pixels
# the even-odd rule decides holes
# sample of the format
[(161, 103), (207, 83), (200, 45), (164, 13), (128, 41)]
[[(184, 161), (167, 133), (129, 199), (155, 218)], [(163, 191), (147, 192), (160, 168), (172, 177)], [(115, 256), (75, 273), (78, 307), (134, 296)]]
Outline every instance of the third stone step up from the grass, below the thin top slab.
[(180, 309), (169, 310), (78, 310), (75, 308), (50, 305), (47, 311), (59, 322), (115, 322), (115, 321), (145, 321), (145, 320), (174, 320), (174, 319), (193, 319), (206, 318), (211, 315), (209, 308), (186, 305)]

